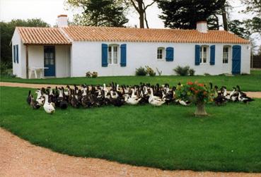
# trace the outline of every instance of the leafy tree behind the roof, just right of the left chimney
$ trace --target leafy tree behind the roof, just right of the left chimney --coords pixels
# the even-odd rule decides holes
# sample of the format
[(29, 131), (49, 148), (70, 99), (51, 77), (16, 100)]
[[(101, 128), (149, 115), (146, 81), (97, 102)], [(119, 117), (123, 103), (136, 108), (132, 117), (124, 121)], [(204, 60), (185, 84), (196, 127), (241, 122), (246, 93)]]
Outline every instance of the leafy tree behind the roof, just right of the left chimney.
[(83, 12), (74, 16), (76, 25), (122, 27), (129, 20), (125, 17), (124, 6), (112, 0), (67, 0), (73, 8), (81, 7)]

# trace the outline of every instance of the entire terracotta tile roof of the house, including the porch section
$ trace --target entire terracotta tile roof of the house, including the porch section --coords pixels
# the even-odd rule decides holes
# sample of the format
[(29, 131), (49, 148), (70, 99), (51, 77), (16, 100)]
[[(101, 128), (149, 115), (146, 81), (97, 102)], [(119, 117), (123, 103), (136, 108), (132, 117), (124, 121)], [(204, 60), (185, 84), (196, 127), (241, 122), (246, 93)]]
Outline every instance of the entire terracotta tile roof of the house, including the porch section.
[(104, 42), (249, 43), (246, 39), (221, 30), (202, 33), (197, 30), (69, 26), (62, 29), (18, 27), (18, 32), (23, 44), (71, 44), (70, 39)]

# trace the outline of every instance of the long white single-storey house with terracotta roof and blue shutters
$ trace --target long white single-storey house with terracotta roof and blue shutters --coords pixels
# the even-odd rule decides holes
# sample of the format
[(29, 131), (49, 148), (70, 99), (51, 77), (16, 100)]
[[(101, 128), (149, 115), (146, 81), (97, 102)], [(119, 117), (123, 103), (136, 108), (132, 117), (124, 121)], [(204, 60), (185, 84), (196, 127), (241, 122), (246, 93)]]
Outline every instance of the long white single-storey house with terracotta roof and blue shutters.
[(45, 77), (134, 75), (136, 68), (190, 66), (196, 75), (250, 73), (250, 43), (224, 30), (139, 29), (68, 26), (58, 16), (58, 28), (16, 27), (12, 38), (13, 74), (33, 78), (30, 71), (44, 68)]

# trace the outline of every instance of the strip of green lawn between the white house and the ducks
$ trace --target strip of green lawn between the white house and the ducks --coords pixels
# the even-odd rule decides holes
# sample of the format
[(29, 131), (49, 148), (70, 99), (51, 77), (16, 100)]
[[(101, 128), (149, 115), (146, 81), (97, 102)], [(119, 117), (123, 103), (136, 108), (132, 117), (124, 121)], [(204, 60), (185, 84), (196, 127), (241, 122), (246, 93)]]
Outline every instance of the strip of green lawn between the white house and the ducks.
[(186, 83), (187, 81), (199, 81), (204, 83), (212, 82), (214, 85), (221, 87), (225, 85), (228, 90), (232, 87), (240, 85), (243, 91), (261, 91), (261, 71), (251, 71), (250, 75), (195, 75), (195, 76), (115, 76), (115, 77), (99, 77), (99, 78), (50, 78), (50, 79), (21, 79), (21, 78), (5, 78), (1, 77), (1, 81), (5, 82), (17, 82), (17, 83), (45, 83), (45, 84), (103, 84), (116, 82), (120, 85), (134, 85), (140, 82), (151, 84), (164, 84), (170, 83), (170, 85), (177, 85), (178, 82)]

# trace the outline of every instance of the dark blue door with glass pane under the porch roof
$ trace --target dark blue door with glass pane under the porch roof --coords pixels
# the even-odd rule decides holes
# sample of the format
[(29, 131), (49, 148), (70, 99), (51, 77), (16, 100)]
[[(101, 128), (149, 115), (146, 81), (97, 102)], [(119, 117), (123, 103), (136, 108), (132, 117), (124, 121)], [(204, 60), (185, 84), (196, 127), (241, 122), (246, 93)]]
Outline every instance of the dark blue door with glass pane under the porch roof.
[(55, 76), (55, 48), (54, 46), (44, 47), (45, 76)]

